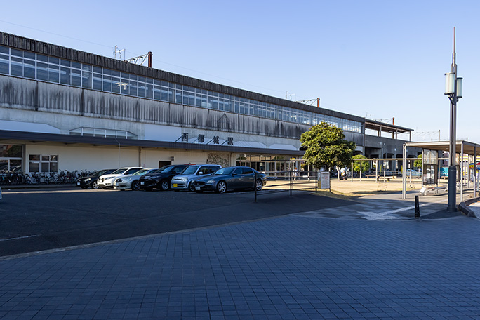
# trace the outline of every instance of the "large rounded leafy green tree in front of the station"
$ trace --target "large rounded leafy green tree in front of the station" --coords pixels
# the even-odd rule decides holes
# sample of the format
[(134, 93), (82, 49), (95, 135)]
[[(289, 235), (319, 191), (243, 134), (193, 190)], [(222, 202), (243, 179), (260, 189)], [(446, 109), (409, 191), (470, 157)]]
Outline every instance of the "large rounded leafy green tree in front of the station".
[(345, 140), (343, 130), (333, 124), (322, 121), (312, 126), (300, 137), (302, 148), (305, 149), (305, 162), (328, 171), (334, 166), (347, 166), (352, 160), (356, 145)]

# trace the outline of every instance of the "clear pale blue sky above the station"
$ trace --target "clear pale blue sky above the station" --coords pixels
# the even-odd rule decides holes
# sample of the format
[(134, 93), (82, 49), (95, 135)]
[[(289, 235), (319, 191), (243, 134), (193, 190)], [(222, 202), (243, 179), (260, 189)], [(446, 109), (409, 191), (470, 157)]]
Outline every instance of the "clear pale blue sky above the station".
[(27, 0), (2, 12), (2, 32), (110, 58), (152, 51), (155, 69), (394, 118), (415, 141), (449, 139), (455, 27), (457, 139), (480, 143), (480, 1)]

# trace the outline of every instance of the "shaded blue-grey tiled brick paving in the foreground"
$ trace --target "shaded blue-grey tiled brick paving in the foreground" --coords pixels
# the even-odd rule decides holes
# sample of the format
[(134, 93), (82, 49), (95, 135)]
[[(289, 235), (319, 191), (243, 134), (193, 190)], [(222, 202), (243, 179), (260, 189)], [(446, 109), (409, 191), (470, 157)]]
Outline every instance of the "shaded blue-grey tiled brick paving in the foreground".
[(2, 260), (0, 318), (478, 319), (479, 220), (388, 198)]

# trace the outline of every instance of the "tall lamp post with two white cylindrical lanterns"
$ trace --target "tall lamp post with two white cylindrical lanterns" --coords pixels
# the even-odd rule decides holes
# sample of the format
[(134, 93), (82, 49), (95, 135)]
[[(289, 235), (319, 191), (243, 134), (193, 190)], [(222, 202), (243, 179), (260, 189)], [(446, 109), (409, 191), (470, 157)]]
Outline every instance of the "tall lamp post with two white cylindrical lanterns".
[(455, 27), (453, 27), (453, 54), (450, 72), (445, 74), (445, 94), (450, 100), (450, 148), (448, 155), (448, 211), (457, 211), (457, 167), (455, 166), (457, 145), (457, 102), (462, 98), (462, 78), (457, 77), (457, 64), (455, 61)]

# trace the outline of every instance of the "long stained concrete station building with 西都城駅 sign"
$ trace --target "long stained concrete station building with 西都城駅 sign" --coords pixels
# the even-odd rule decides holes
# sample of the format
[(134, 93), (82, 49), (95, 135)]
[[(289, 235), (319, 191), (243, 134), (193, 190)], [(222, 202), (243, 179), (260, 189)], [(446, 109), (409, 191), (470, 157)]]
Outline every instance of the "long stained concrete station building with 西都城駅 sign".
[[(284, 171), (300, 167), (300, 135), (321, 121), (367, 156), (401, 154), (395, 133), (410, 131), (0, 32), (0, 170), (209, 163)], [(378, 137), (366, 138), (368, 126)], [(385, 128), (392, 138), (380, 135)]]

